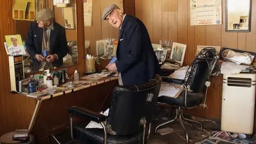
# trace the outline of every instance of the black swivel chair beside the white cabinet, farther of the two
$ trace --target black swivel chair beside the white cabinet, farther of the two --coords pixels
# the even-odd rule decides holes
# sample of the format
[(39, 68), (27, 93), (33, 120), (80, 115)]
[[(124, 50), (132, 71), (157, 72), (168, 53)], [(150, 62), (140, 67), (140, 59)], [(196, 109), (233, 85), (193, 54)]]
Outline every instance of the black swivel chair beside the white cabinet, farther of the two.
[[(192, 119), (185, 118), (183, 116), (183, 109), (192, 109), (197, 106), (207, 107), (205, 104), (207, 87), (210, 86), (209, 76), (211, 71), (218, 65), (219, 55), (213, 48), (207, 47), (197, 55), (197, 58), (192, 62), (190, 73), (186, 74), (185, 79), (173, 79), (170, 77), (163, 77), (163, 82), (181, 84), (184, 90), (180, 93), (178, 98), (171, 98), (161, 96), (158, 98), (158, 102), (165, 103), (167, 105), (172, 105), (178, 107), (176, 109), (176, 115), (174, 119), (167, 121), (161, 125), (158, 125), (155, 129), (155, 135), (157, 134), (157, 129), (165, 124), (169, 124), (178, 120), (186, 133), (186, 143), (188, 143), (188, 133), (186, 131), (183, 121), (190, 121), (200, 125), (200, 130), (202, 130), (201, 123), (194, 121)], [(219, 66), (219, 65), (218, 65)], [(202, 103), (204, 101), (204, 103)], [(202, 103), (202, 104), (201, 104)]]

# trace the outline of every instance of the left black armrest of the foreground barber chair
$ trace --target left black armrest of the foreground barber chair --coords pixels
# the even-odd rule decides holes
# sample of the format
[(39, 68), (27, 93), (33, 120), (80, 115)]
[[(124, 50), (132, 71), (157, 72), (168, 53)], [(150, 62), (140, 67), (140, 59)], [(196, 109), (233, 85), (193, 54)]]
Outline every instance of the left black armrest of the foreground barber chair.
[(90, 119), (91, 121), (94, 121), (94, 122), (97, 122), (97, 123), (100, 123), (100, 122), (103, 122), (103, 121), (106, 120), (105, 115), (95, 113), (91, 110), (81, 108), (81, 107), (77, 107), (77, 106), (69, 107), (68, 108), (68, 113), (85, 117), (86, 119)]

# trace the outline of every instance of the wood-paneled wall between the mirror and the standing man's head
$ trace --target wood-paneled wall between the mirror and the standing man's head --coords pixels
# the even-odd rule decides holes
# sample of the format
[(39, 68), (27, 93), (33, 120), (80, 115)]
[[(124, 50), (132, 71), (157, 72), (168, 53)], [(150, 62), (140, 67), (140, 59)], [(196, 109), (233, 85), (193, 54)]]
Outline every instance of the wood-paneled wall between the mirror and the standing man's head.
[[(135, 0), (123, 0), (121, 6), (120, 0), (93, 0), (92, 2), (92, 26), (84, 27), (85, 41), (90, 41), (90, 47), (87, 53), (97, 55), (96, 41), (105, 38), (117, 39), (118, 29), (111, 26), (107, 21), (102, 20), (102, 12), (110, 4), (116, 4), (123, 7), (125, 13), (135, 15)], [(122, 8), (121, 8), (122, 9)]]

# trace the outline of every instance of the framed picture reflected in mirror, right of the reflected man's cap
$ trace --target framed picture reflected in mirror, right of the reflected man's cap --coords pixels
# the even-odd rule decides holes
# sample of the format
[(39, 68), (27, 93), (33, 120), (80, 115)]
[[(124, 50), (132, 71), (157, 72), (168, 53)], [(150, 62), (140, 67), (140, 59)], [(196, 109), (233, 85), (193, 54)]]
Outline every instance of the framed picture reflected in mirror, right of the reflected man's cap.
[(64, 20), (64, 27), (66, 29), (75, 29), (75, 13), (74, 7), (63, 7), (63, 20)]

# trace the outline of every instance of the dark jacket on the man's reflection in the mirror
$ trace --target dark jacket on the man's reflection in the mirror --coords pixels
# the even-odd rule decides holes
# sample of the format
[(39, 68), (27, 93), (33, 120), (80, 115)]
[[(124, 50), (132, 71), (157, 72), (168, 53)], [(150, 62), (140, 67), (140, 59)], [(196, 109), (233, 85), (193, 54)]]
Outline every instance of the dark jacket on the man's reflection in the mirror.
[[(36, 54), (42, 53), (42, 37), (43, 28), (39, 28), (36, 22), (31, 23), (26, 47), (30, 58), (33, 58), (33, 70), (38, 71), (39, 62), (34, 59)], [(60, 67), (63, 65), (63, 57), (68, 53), (68, 45), (66, 38), (65, 28), (59, 25), (59, 23), (53, 23), (53, 30), (51, 29), (50, 34), (50, 54), (57, 54), (59, 59), (55, 60), (52, 65), (53, 67)]]

